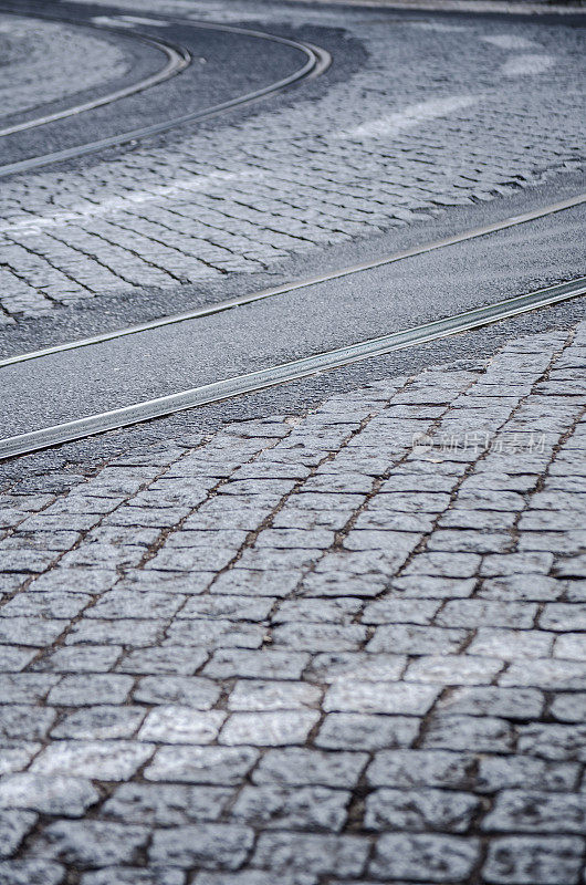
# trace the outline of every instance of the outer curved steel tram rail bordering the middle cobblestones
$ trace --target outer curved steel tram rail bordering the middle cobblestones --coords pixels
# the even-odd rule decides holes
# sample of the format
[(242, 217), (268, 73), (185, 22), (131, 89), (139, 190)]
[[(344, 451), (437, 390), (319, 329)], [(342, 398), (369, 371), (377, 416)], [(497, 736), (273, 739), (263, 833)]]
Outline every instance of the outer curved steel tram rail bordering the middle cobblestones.
[[(46, 18), (51, 19), (52, 21), (63, 21), (62, 19), (59, 19), (56, 17), (39, 15), (39, 18)], [(17, 175), (18, 173), (30, 171), (31, 169), (38, 169), (42, 166), (49, 166), (50, 164), (53, 163), (61, 163), (63, 160), (74, 159), (75, 157), (86, 156), (87, 154), (94, 154), (98, 150), (103, 150), (108, 147), (125, 145), (128, 144), (129, 142), (136, 142), (139, 140), (140, 138), (147, 138), (151, 135), (157, 135), (158, 133), (167, 132), (177, 126), (181, 126), (186, 123), (197, 123), (203, 119), (209, 119), (210, 117), (217, 116), (218, 114), (221, 114), (224, 111), (229, 111), (233, 107), (242, 107), (243, 105), (249, 105), (254, 102), (259, 102), (266, 95), (273, 95), (274, 93), (282, 92), (283, 90), (287, 88), (294, 83), (297, 83), (301, 80), (305, 80), (310, 76), (311, 77), (320, 76), (325, 71), (327, 71), (327, 69), (332, 63), (332, 56), (329, 55), (329, 53), (321, 49), (320, 46), (314, 46), (312, 43), (305, 43), (297, 40), (290, 40), (289, 38), (278, 37), (276, 34), (264, 33), (263, 31), (254, 31), (250, 28), (237, 28), (236, 25), (221, 24), (217, 22), (212, 23), (212, 22), (193, 21), (190, 22), (190, 25), (192, 28), (200, 30), (213, 30), (213, 31), (221, 31), (224, 33), (237, 33), (237, 34), (242, 34), (244, 37), (252, 37), (259, 40), (268, 40), (272, 43), (281, 43), (283, 45), (291, 46), (292, 49), (296, 49), (300, 52), (303, 52), (306, 55), (307, 61), (297, 71), (295, 71), (292, 74), (289, 74), (289, 76), (282, 77), (275, 83), (271, 83), (268, 86), (262, 86), (259, 90), (248, 92), (244, 95), (237, 96), (236, 98), (229, 98), (226, 102), (212, 105), (211, 107), (205, 108), (203, 111), (195, 111), (193, 113), (182, 114), (179, 117), (174, 117), (172, 119), (163, 121), (161, 123), (154, 123), (150, 126), (142, 126), (138, 129), (130, 129), (125, 133), (119, 133), (118, 135), (112, 135), (105, 138), (98, 138), (94, 142), (88, 142), (85, 145), (63, 148), (62, 150), (54, 150), (51, 154), (43, 154), (38, 157), (30, 157), (28, 159), (18, 160), (17, 163), (8, 163), (3, 166), (0, 166), (0, 178), (4, 178), (9, 175)], [(109, 27), (106, 30), (119, 33), (119, 31), (116, 28)], [(142, 35), (142, 34), (136, 34), (136, 35)]]

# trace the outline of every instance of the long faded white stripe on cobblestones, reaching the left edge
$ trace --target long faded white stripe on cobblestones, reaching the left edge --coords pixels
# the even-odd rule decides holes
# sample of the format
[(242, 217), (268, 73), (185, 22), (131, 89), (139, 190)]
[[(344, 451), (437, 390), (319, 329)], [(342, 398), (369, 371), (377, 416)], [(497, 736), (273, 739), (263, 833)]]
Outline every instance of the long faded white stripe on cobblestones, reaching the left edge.
[(150, 190), (134, 190), (124, 197), (109, 197), (94, 206), (84, 202), (83, 206), (73, 206), (63, 212), (55, 212), (51, 216), (31, 216), (21, 218), (18, 221), (0, 225), (0, 233), (40, 233), (46, 228), (56, 228), (72, 221), (83, 221), (86, 218), (98, 218), (105, 215), (115, 215), (119, 211), (132, 210), (133, 206), (142, 206), (157, 200), (168, 200), (179, 197), (186, 190), (209, 190), (214, 185), (240, 180), (242, 178), (254, 177), (260, 179), (262, 175), (258, 169), (242, 169), (238, 173), (211, 173), (195, 178), (176, 178), (168, 185), (159, 185)]

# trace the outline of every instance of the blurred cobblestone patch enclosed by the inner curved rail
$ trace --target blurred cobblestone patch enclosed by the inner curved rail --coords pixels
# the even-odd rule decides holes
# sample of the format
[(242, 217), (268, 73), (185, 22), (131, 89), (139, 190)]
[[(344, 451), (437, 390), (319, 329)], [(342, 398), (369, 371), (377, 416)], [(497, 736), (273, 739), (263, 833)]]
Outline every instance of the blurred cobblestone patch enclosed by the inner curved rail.
[(0, 14), (0, 50), (2, 116), (100, 86), (128, 67), (126, 53), (95, 32), (14, 15)]

